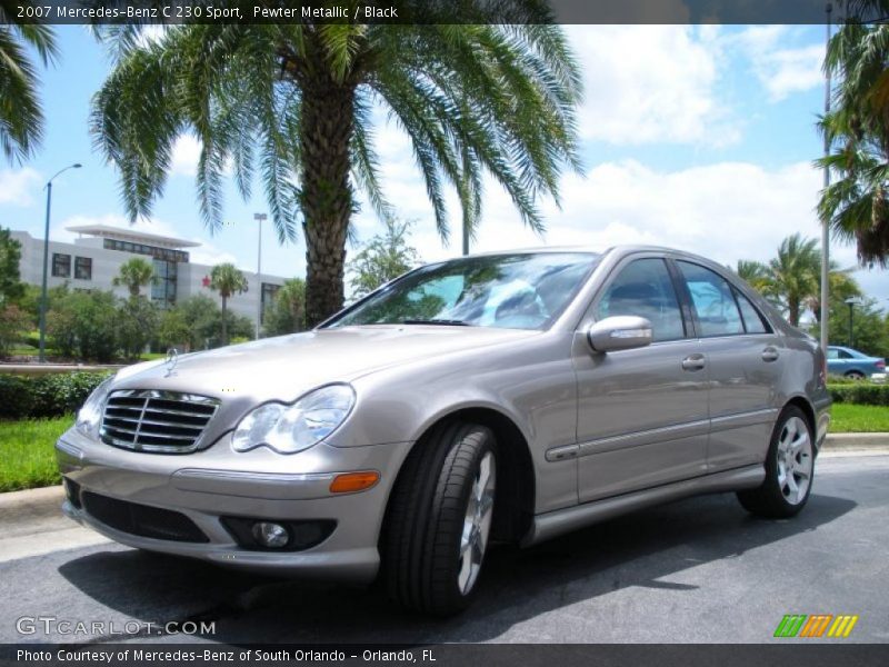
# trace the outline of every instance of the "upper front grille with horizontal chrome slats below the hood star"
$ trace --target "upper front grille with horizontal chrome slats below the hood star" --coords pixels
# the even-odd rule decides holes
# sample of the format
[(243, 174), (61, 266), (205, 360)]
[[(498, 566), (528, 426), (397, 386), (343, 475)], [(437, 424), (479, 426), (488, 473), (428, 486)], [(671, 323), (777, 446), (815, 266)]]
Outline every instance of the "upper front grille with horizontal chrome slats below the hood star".
[(126, 389), (108, 397), (99, 435), (114, 447), (137, 451), (187, 454), (201, 444), (201, 436), (219, 408), (209, 396)]

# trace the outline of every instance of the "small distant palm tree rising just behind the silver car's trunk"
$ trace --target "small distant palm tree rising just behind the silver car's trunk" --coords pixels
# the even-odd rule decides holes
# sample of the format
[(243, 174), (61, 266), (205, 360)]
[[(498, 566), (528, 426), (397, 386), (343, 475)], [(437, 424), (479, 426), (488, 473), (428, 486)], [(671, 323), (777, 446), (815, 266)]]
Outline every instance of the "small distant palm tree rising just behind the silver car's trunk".
[(795, 327), (806, 303), (819, 293), (821, 252), (815, 239), (803, 239), (799, 233), (787, 237), (778, 248), (778, 256), (769, 261), (769, 281), (765, 293), (775, 297), (787, 310), (787, 319)]

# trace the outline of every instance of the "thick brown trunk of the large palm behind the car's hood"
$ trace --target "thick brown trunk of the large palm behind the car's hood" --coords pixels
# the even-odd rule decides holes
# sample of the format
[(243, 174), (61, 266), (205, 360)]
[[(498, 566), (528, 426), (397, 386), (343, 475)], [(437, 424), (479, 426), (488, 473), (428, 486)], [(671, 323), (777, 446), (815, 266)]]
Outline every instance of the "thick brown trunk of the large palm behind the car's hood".
[(306, 320), (313, 327), (343, 303), (346, 236), (352, 212), (349, 142), (354, 86), (338, 83), (322, 63), (302, 80), (302, 216)]

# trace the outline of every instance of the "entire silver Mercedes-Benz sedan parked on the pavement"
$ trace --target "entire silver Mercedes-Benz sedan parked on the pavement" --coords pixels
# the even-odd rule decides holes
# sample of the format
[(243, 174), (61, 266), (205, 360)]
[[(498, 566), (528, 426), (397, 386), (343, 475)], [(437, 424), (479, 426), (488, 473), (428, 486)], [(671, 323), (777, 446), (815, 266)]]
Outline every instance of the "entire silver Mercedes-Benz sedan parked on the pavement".
[(140, 364), (58, 441), (64, 511), (133, 547), (371, 580), (455, 613), (492, 540), (737, 491), (798, 512), (816, 341), (721, 266), (547, 249), (416, 269), (312, 331)]

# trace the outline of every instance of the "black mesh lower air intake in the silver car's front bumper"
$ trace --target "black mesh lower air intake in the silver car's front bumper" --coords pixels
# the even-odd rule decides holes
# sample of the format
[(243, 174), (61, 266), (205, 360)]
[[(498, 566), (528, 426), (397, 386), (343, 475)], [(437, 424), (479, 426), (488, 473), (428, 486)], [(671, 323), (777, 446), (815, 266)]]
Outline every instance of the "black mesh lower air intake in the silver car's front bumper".
[(210, 541), (194, 521), (181, 512), (117, 500), (91, 491), (84, 491), (80, 497), (87, 514), (114, 530), (171, 541)]

